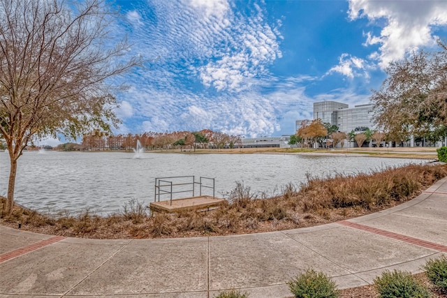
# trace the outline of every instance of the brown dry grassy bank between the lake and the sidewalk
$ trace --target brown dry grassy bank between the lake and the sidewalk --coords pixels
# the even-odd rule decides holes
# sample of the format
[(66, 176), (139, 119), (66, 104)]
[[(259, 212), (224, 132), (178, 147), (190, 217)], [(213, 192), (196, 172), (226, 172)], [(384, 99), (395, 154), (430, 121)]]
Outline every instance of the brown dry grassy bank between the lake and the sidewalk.
[[(437, 180), (447, 177), (446, 165), (408, 165), (373, 174), (324, 179), (309, 177), (288, 184), (281, 195), (259, 198), (237, 184), (228, 202), (214, 211), (149, 216), (145, 206), (129, 202), (120, 214), (107, 217), (84, 211), (79, 216), (46, 216), (16, 206), (13, 216), (1, 213), (0, 224), (22, 230), (97, 239), (195, 237), (302, 228), (361, 216), (405, 202)], [(5, 200), (0, 200), (4, 210)]]

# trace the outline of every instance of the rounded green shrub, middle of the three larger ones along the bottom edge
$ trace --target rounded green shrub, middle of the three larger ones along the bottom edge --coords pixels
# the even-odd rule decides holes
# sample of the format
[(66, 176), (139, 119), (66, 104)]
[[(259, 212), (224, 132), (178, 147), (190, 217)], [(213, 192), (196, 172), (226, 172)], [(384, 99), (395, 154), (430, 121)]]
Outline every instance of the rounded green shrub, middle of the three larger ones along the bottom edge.
[(429, 298), (431, 293), (420, 285), (411, 273), (394, 270), (384, 271), (374, 278), (374, 286), (381, 298)]

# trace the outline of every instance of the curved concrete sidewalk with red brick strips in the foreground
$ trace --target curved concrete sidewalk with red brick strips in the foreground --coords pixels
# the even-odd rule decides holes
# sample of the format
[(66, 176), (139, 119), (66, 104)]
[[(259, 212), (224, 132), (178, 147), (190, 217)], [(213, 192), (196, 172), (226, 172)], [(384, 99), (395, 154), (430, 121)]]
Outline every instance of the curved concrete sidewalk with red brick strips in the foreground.
[(226, 237), (95, 240), (0, 226), (0, 297), (291, 297), (312, 268), (339, 288), (447, 253), (447, 179), (409, 202), (312, 228)]

